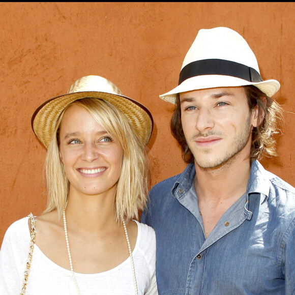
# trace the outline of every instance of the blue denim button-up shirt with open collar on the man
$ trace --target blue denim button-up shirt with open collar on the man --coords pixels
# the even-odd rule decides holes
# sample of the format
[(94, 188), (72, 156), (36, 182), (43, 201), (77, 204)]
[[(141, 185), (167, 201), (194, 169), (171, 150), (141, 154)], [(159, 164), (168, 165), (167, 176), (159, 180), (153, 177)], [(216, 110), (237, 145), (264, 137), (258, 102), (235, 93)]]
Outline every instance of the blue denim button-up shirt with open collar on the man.
[(154, 186), (141, 215), (156, 231), (159, 294), (295, 294), (295, 189), (254, 161), (206, 239), (194, 177), (189, 164)]

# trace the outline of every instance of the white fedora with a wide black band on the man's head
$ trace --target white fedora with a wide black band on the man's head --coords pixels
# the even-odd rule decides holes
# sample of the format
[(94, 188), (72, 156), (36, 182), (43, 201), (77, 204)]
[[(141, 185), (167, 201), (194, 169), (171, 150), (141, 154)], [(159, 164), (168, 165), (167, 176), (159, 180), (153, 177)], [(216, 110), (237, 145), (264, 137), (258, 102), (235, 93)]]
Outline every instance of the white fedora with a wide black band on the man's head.
[(184, 59), (179, 85), (160, 98), (175, 103), (178, 93), (246, 85), (256, 86), (269, 97), (280, 88), (276, 80), (261, 79), (256, 57), (240, 34), (215, 27), (198, 32)]

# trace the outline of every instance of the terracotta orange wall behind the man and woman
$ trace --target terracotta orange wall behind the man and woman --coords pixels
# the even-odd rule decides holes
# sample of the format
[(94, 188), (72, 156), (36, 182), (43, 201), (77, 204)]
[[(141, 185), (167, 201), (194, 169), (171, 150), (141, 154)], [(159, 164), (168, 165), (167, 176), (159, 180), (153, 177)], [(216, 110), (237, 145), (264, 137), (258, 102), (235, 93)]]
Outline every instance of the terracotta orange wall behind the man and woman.
[(0, 243), (12, 222), (46, 205), (45, 149), (31, 116), (82, 76), (104, 76), (151, 110), (152, 185), (185, 168), (169, 130), (174, 107), (159, 94), (178, 83), (201, 28), (239, 32), (262, 78), (281, 82), (284, 135), (279, 156), (262, 163), (295, 186), (294, 3), (1, 3), (0, 14)]

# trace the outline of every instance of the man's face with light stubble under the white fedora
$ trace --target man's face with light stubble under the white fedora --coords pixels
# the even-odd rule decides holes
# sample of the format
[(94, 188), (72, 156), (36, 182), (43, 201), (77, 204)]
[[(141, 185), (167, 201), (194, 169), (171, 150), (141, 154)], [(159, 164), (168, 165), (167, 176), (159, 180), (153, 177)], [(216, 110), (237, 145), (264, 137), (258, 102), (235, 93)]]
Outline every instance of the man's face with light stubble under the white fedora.
[(214, 168), (250, 155), (258, 110), (250, 111), (243, 87), (181, 93), (180, 103), (183, 131), (198, 166)]

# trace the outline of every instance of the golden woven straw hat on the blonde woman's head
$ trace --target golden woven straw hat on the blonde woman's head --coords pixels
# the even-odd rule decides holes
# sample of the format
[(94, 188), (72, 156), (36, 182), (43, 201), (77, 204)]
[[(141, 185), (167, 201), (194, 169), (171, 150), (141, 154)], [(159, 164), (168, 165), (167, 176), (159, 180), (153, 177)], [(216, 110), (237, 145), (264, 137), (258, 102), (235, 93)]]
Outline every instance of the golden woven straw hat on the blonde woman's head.
[(99, 98), (119, 108), (133, 125), (138, 137), (146, 145), (153, 131), (153, 117), (150, 111), (131, 98), (122, 95), (111, 81), (100, 76), (85, 76), (78, 79), (67, 94), (57, 96), (39, 106), (32, 117), (32, 128), (39, 140), (48, 147), (58, 117), (75, 100)]

